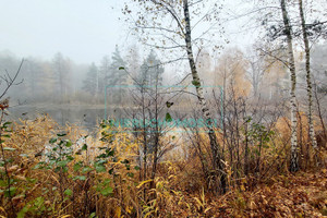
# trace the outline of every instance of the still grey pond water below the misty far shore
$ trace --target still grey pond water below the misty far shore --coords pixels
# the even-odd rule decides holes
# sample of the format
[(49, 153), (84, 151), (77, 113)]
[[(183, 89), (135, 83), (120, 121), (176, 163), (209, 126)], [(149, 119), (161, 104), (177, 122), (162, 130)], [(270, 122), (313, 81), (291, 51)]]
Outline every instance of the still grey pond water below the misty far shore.
[[(34, 120), (38, 116), (48, 114), (59, 125), (65, 125), (66, 123), (76, 124), (88, 131), (93, 131), (98, 128), (99, 123), (104, 120), (105, 117), (105, 107), (104, 106), (86, 106), (86, 105), (24, 105), (15, 106), (9, 108), (9, 116), (7, 120), (17, 121), (22, 120)], [(109, 118), (114, 118), (117, 120), (132, 118), (132, 113), (138, 111), (136, 108), (107, 108), (107, 116)], [(172, 119), (181, 119), (192, 114), (192, 112), (186, 110), (169, 109), (164, 110), (160, 114), (160, 120), (165, 121), (166, 113), (171, 113)], [(194, 123), (194, 122), (192, 122)], [(220, 121), (216, 123), (217, 126), (220, 124)]]

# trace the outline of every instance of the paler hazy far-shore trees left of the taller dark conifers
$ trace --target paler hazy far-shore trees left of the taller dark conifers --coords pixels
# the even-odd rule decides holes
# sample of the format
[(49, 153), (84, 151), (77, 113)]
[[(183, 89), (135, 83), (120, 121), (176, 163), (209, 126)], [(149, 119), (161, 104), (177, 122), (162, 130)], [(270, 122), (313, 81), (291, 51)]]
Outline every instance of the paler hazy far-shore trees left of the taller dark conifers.
[[(12, 53), (1, 53), (1, 72), (13, 75), (21, 61), (21, 58)], [(71, 97), (78, 92), (78, 81), (74, 81), (75, 75), (83, 74), (84, 68), (60, 52), (49, 61), (33, 57), (24, 58), (16, 80), (20, 84), (12, 87), (7, 95), (10, 96), (12, 105), (70, 102)]]

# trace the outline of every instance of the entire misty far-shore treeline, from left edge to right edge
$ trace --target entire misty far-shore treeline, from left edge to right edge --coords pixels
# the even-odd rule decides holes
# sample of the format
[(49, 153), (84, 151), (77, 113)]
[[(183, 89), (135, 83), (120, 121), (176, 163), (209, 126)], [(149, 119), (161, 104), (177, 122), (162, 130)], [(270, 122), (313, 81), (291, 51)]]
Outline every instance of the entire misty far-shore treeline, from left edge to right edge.
[[(327, 90), (324, 60), (327, 55), (326, 47), (326, 44), (315, 45), (312, 50), (313, 84), (318, 94)], [(122, 55), (116, 47), (111, 56), (106, 56), (99, 63), (93, 62), (89, 65), (76, 64), (62, 53), (55, 55), (50, 61), (25, 58), (19, 75), (19, 81), (22, 83), (13, 87), (9, 96), (15, 105), (49, 101), (104, 104), (106, 86), (109, 97), (111, 96), (110, 100), (120, 102), (129, 93), (129, 88), (123, 86), (137, 86), (143, 83), (143, 80), (148, 81), (148, 84), (155, 84), (157, 74), (161, 84), (173, 85), (172, 80), (165, 81), (164, 75), (166, 78), (173, 78), (174, 71), (171, 68), (165, 71), (166, 65), (161, 63), (154, 50), (144, 58), (140, 56), (136, 47), (132, 47), (126, 53)], [(279, 56), (282, 56), (282, 52)], [(298, 66), (304, 69), (303, 53), (299, 52), (296, 57)], [(20, 62), (21, 59), (12, 53), (0, 53), (0, 69), (3, 73), (5, 71), (10, 74), (15, 73)], [(233, 84), (240, 95), (269, 100), (288, 96), (287, 68), (271, 57), (258, 52), (256, 45), (247, 52), (238, 48), (227, 49), (215, 63), (210, 53), (203, 50), (198, 53), (197, 68), (206, 86), (223, 86), (227, 90), (228, 86)], [(186, 74), (186, 66), (182, 65), (181, 69), (181, 72)], [(298, 92), (301, 93), (301, 87), (305, 84), (304, 70), (299, 71), (298, 80), (300, 87)], [(186, 82), (191, 84), (190, 80)]]

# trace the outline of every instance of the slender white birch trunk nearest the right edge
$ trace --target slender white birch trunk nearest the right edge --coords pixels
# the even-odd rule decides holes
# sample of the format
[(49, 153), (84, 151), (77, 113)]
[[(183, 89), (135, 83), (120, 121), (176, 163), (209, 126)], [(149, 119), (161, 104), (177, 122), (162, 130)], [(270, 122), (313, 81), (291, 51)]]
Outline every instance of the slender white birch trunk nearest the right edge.
[[(312, 114), (312, 82), (311, 82), (311, 62), (310, 62), (310, 46), (308, 46), (308, 38), (307, 38), (307, 32), (305, 27), (305, 19), (303, 13), (303, 1), (299, 0), (299, 10), (300, 10), (300, 16), (301, 16), (301, 26), (302, 26), (302, 35), (303, 35), (303, 43), (305, 47), (305, 71), (306, 71), (306, 90), (307, 90), (307, 117), (308, 117), (308, 138), (311, 141), (311, 144), (313, 148), (315, 149), (315, 157), (316, 157), (316, 149), (317, 149), (317, 141), (315, 137), (315, 130), (313, 124), (313, 114)], [(318, 164), (318, 162), (316, 162)]]

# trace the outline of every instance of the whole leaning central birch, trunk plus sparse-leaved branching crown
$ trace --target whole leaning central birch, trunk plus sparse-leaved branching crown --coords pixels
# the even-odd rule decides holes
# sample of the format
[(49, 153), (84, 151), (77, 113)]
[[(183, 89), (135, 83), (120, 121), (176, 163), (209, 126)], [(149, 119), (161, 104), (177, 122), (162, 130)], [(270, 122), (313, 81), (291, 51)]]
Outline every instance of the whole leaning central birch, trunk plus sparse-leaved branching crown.
[[(195, 62), (195, 50), (202, 46), (206, 39), (203, 34), (193, 38), (194, 28), (202, 22), (207, 22), (208, 29), (214, 29), (214, 25), (218, 22), (219, 7), (214, 2), (213, 7), (207, 4), (213, 1), (208, 0), (136, 0), (137, 8), (143, 9), (132, 16), (133, 8), (125, 4), (124, 14), (131, 15), (133, 24), (141, 34), (155, 32), (156, 35), (145, 37), (144, 43), (162, 50), (179, 49), (182, 56), (179, 59), (185, 59), (190, 65), (190, 75), (192, 75), (192, 84), (195, 86), (197, 102), (201, 106), (202, 116), (209, 126), (211, 126), (211, 113), (209, 111), (207, 100), (204, 97), (203, 84), (198, 75), (198, 69)], [(208, 11), (206, 11), (208, 10)], [(203, 13), (206, 11), (205, 13)], [(192, 23), (193, 22), (193, 23)], [(160, 44), (152, 44), (146, 39), (160, 40)], [(226, 192), (226, 173), (223, 167), (223, 155), (214, 128), (209, 128), (208, 137), (211, 149), (211, 161), (215, 170), (216, 181), (220, 182), (222, 192)]]

